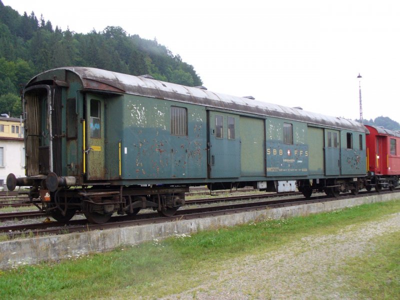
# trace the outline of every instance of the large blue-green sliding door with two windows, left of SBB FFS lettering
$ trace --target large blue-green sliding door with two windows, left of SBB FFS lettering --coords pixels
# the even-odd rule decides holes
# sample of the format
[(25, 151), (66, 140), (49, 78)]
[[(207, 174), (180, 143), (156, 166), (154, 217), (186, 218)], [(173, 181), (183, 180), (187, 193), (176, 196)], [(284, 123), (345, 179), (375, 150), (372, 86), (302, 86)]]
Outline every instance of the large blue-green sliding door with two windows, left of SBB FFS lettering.
[(208, 177), (240, 176), (239, 116), (208, 110)]

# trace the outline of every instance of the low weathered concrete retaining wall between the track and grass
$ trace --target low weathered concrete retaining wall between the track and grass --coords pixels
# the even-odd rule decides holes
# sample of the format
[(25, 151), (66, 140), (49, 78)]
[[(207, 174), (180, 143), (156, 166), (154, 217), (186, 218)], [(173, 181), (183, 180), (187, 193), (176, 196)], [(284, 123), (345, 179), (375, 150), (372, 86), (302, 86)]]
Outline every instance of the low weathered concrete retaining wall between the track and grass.
[(192, 220), (176, 220), (159, 224), (3, 241), (0, 242), (0, 268), (103, 252), (120, 245), (133, 245), (143, 241), (162, 239), (174, 234), (189, 234), (221, 226), (234, 226), (255, 219), (307, 215), (364, 203), (388, 201), (399, 198), (399, 195), (400, 192), (372, 194), (359, 198), (338, 199), (329, 202), (248, 211)]

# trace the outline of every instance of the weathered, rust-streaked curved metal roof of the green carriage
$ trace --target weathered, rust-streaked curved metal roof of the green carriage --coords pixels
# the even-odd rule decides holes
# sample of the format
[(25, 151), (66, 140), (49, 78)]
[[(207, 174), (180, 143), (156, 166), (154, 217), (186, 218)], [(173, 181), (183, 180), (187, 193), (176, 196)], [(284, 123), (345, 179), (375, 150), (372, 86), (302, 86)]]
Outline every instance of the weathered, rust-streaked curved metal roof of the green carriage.
[(36, 78), (38, 77), (40, 77), (40, 79), (45, 78), (46, 74), (48, 75), (48, 79), (52, 79), (51, 72), (56, 70), (74, 72), (80, 77), (83, 87), (87, 89), (119, 91), (160, 99), (201, 104), (208, 107), (232, 111), (242, 111), (262, 116), (279, 117), (307, 122), (309, 124), (368, 132), (366, 127), (362, 124), (342, 117), (327, 116), (298, 108), (257, 101), (246, 97), (215, 93), (196, 87), (183, 86), (91, 67), (63, 67), (48, 70), (31, 79), (28, 85), (37, 80)]

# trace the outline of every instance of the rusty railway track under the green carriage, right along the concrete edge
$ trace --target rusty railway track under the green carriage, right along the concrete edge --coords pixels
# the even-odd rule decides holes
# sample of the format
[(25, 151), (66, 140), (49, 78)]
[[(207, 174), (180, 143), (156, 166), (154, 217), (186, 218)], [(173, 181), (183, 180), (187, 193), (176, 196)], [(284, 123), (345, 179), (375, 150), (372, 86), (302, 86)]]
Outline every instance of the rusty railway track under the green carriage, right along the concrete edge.
[[(381, 193), (391, 193), (398, 192), (395, 191), (384, 191)], [(343, 194), (340, 198), (353, 198), (362, 197), (370, 192), (360, 192), (358, 195), (354, 196), (351, 194)], [(274, 195), (276, 196), (276, 195)], [(59, 234), (59, 233), (71, 233), (71, 232), (82, 232), (87, 230), (95, 229), (106, 229), (112, 227), (123, 227), (132, 226), (148, 223), (159, 223), (165, 221), (172, 221), (176, 219), (193, 219), (197, 217), (215, 216), (222, 214), (238, 213), (248, 210), (259, 210), (282, 206), (293, 206), (298, 204), (315, 203), (322, 201), (337, 200), (338, 198), (329, 198), (326, 195), (313, 196), (310, 199), (292, 198), (292, 199), (269, 199), (265, 201), (255, 201), (255, 202), (244, 202), (237, 204), (225, 204), (218, 206), (203, 206), (199, 208), (188, 208), (176, 211), (176, 214), (171, 217), (160, 217), (156, 212), (146, 212), (139, 213), (135, 215), (134, 219), (131, 216), (121, 215), (113, 216), (110, 221), (104, 224), (89, 224), (86, 219), (71, 220), (67, 224), (61, 222), (41, 222), (32, 224), (22, 224), (22, 225), (12, 225), (12, 226), (2, 226), (0, 227), (0, 232), (6, 234), (8, 238), (15, 238), (18, 236), (36, 236), (43, 234)]]

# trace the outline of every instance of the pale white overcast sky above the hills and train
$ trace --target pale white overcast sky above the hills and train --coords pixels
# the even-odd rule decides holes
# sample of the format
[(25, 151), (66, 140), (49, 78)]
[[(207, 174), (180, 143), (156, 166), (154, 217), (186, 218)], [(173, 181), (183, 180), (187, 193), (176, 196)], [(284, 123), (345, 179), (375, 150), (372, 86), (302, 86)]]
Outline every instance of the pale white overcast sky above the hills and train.
[(120, 26), (156, 38), (208, 90), (346, 118), (400, 122), (394, 0), (2, 0), (62, 30)]

